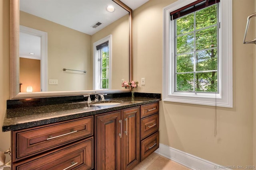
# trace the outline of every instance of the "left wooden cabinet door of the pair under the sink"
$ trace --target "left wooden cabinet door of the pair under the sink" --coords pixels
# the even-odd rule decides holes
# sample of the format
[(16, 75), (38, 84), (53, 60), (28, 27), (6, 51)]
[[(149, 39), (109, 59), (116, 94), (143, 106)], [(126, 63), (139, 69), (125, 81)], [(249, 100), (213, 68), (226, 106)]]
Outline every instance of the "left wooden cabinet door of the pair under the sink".
[(96, 116), (96, 169), (121, 169), (121, 111)]

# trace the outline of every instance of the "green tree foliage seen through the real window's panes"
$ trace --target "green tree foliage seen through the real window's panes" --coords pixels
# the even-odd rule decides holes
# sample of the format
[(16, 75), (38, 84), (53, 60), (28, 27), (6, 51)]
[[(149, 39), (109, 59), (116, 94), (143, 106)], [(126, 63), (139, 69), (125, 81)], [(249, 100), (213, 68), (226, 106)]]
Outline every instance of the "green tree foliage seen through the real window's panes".
[(175, 20), (176, 91), (218, 92), (217, 5)]

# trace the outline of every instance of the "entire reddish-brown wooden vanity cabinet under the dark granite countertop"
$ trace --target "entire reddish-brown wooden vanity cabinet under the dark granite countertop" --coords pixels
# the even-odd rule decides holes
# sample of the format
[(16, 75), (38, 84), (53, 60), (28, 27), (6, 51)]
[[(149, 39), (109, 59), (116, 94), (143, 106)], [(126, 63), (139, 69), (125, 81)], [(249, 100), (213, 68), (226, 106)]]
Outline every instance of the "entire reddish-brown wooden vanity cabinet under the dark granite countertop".
[(12, 131), (12, 169), (130, 170), (159, 147), (158, 106)]

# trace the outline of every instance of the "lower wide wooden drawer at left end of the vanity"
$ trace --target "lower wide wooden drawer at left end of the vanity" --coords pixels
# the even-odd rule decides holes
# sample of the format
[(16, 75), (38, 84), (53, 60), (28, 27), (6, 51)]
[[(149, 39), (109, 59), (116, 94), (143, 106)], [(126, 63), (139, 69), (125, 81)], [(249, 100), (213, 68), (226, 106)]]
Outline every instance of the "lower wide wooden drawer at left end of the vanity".
[(26, 163), (13, 164), (14, 170), (89, 170), (93, 168), (93, 137), (42, 154)]

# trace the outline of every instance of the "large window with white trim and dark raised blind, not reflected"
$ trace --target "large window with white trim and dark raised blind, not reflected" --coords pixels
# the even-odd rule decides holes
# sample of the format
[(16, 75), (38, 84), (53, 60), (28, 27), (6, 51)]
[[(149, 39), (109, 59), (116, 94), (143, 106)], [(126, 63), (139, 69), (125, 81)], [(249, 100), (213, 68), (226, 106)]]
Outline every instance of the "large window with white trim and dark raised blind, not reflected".
[(163, 100), (232, 107), (232, 0), (164, 8)]

